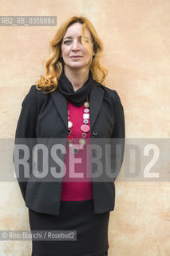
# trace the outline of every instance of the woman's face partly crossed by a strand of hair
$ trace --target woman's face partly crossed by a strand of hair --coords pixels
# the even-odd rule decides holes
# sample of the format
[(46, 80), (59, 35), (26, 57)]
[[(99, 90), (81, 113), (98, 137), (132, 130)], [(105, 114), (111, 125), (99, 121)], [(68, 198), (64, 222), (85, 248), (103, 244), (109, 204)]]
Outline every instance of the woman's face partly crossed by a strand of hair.
[[(73, 23), (68, 27), (61, 43), (61, 56), (65, 63), (65, 68), (84, 69), (89, 68), (89, 51), (81, 44), (81, 23)], [(85, 42), (93, 51), (93, 42), (89, 30), (85, 29)]]

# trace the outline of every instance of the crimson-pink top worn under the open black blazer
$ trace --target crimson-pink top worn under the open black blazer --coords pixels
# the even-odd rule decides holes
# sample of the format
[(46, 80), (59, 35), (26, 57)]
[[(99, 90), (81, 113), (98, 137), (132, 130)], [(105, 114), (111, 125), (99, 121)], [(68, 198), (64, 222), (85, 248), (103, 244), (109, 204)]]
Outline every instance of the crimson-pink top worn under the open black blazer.
[[(68, 110), (69, 120), (73, 122), (73, 126), (71, 127), (72, 143), (79, 145), (78, 141), (82, 138), (81, 125), (84, 124), (83, 114), (85, 113), (85, 106), (74, 106), (71, 102), (68, 102)], [(88, 125), (90, 126), (90, 120)], [(92, 178), (88, 177), (88, 171), (91, 170), (90, 150), (86, 150), (90, 140), (90, 130), (86, 134), (86, 144), (77, 154), (71, 152), (67, 143), (67, 154), (65, 154), (66, 174), (62, 182), (62, 201), (82, 201), (93, 198)], [(89, 154), (88, 162), (86, 162), (87, 154)]]

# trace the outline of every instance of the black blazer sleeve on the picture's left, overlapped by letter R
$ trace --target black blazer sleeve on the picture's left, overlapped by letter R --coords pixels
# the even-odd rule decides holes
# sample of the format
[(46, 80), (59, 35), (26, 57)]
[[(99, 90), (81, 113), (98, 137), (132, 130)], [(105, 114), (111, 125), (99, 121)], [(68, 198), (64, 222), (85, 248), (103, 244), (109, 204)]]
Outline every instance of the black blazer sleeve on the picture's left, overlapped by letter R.
[[(22, 110), (18, 118), (18, 124), (15, 132), (15, 139), (14, 139), (14, 154), (13, 154), (14, 170), (17, 173), (18, 184), (22, 191), (22, 196), (24, 200), (26, 198), (26, 185), (29, 177), (26, 177), (26, 173), (25, 173), (26, 169), (24, 169), (25, 166), (20, 164), (19, 159), (26, 159), (27, 166), (29, 166), (28, 168), (29, 175), (27, 176), (30, 176), (32, 172), (32, 150), (34, 145), (36, 144), (35, 129), (36, 129), (37, 118), (38, 118), (38, 106), (37, 106), (36, 94), (37, 94), (36, 86), (31, 86), (29, 93), (26, 95), (26, 98), (24, 98), (22, 102)], [(29, 150), (27, 151), (29, 152), (29, 155), (26, 153), (26, 151), (21, 150), (20, 148), (21, 145), (26, 146), (25, 148)]]

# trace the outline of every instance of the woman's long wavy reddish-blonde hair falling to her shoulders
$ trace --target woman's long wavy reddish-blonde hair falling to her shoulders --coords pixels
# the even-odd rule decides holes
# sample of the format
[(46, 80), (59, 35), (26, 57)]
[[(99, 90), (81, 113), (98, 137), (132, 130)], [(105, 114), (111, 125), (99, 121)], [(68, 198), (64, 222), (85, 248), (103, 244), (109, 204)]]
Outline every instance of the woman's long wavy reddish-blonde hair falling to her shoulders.
[[(89, 19), (82, 16), (73, 16), (64, 22), (57, 33), (55, 34), (52, 41), (49, 42), (49, 48), (52, 50), (50, 58), (45, 62), (46, 74), (41, 75), (41, 78), (35, 82), (38, 90), (42, 90), (44, 93), (52, 92), (57, 89), (57, 82), (61, 76), (64, 62), (61, 58), (61, 43), (65, 36), (65, 32), (70, 25), (79, 22), (82, 24), (81, 30), (81, 42), (82, 45), (89, 50), (91, 60), (89, 62), (89, 69), (93, 73), (93, 79), (105, 86), (105, 77), (108, 74), (108, 70), (101, 63), (102, 53), (103, 53), (103, 43), (97, 35), (93, 24), (89, 22)], [(90, 50), (89, 46), (85, 42), (85, 29), (89, 30), (91, 38), (93, 40), (93, 51)]]

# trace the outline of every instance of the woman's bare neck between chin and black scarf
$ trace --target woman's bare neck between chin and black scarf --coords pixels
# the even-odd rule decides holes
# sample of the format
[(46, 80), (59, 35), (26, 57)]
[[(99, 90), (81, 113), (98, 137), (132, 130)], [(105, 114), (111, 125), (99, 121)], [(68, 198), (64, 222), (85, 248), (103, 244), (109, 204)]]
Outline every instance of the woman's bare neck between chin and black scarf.
[(84, 83), (89, 78), (89, 69), (85, 69), (85, 70), (68, 70), (68, 68), (66, 66), (64, 66), (64, 70), (65, 70), (65, 76), (71, 82), (74, 91), (76, 91), (79, 88), (81, 88), (81, 86), (83, 86)]

